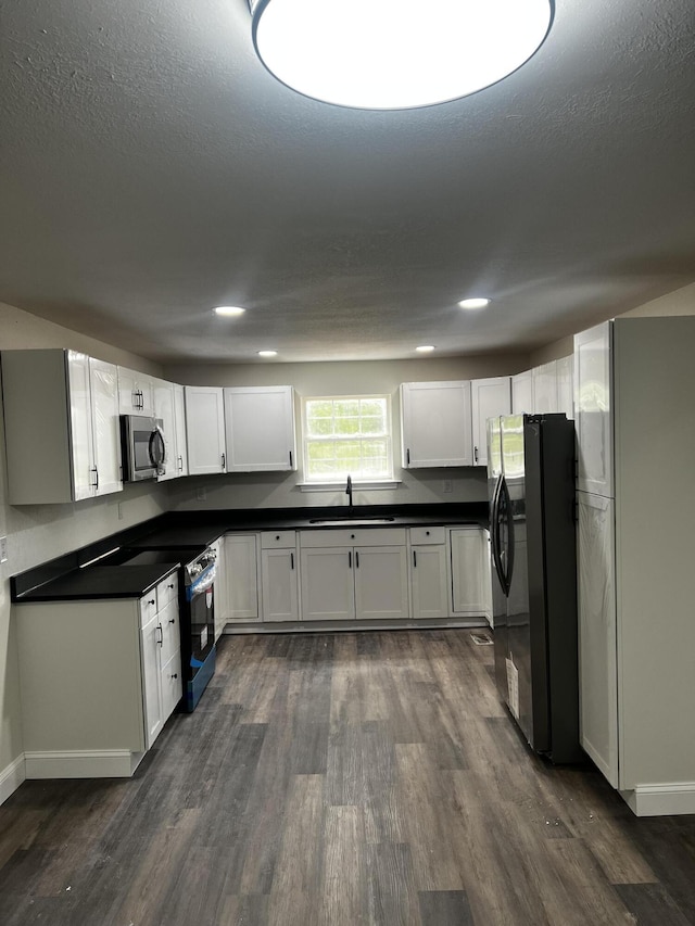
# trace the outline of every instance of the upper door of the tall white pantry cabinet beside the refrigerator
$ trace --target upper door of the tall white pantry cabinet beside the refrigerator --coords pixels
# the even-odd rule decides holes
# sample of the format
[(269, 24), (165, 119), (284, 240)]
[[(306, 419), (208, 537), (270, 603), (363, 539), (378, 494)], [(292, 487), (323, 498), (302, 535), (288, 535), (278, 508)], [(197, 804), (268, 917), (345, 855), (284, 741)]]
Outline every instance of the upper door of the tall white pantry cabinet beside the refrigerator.
[(609, 321), (574, 335), (577, 487), (612, 496), (612, 329)]

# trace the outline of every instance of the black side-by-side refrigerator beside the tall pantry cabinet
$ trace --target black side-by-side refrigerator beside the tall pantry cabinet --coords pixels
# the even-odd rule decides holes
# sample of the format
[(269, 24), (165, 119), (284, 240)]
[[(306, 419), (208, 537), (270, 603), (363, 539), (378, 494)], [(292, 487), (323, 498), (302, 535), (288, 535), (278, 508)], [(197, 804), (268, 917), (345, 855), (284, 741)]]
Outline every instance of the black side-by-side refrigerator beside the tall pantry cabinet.
[(488, 478), (497, 688), (536, 752), (578, 762), (573, 421), (490, 418)]

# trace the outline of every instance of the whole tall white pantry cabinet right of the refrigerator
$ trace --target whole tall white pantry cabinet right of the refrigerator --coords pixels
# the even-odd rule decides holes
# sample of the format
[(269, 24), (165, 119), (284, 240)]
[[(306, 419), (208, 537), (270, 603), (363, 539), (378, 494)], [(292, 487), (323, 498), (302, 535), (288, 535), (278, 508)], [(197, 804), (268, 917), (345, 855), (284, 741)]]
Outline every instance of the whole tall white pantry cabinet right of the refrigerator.
[(695, 317), (574, 339), (582, 746), (637, 815), (695, 813)]

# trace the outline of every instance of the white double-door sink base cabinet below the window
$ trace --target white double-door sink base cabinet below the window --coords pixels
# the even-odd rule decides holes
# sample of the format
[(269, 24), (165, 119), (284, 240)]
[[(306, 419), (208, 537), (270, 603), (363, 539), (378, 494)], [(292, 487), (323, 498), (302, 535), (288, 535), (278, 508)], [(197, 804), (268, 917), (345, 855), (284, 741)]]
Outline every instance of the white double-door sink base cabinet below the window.
[(305, 621), (409, 617), (404, 528), (301, 531)]

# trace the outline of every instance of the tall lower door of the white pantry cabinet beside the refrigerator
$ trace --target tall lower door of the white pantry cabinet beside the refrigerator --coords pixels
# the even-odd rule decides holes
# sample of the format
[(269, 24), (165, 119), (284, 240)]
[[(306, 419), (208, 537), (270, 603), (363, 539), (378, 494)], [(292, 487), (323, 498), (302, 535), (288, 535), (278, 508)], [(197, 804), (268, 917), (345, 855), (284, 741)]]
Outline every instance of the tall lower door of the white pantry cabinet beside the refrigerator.
[(580, 740), (614, 788), (618, 777), (615, 503), (577, 493)]

